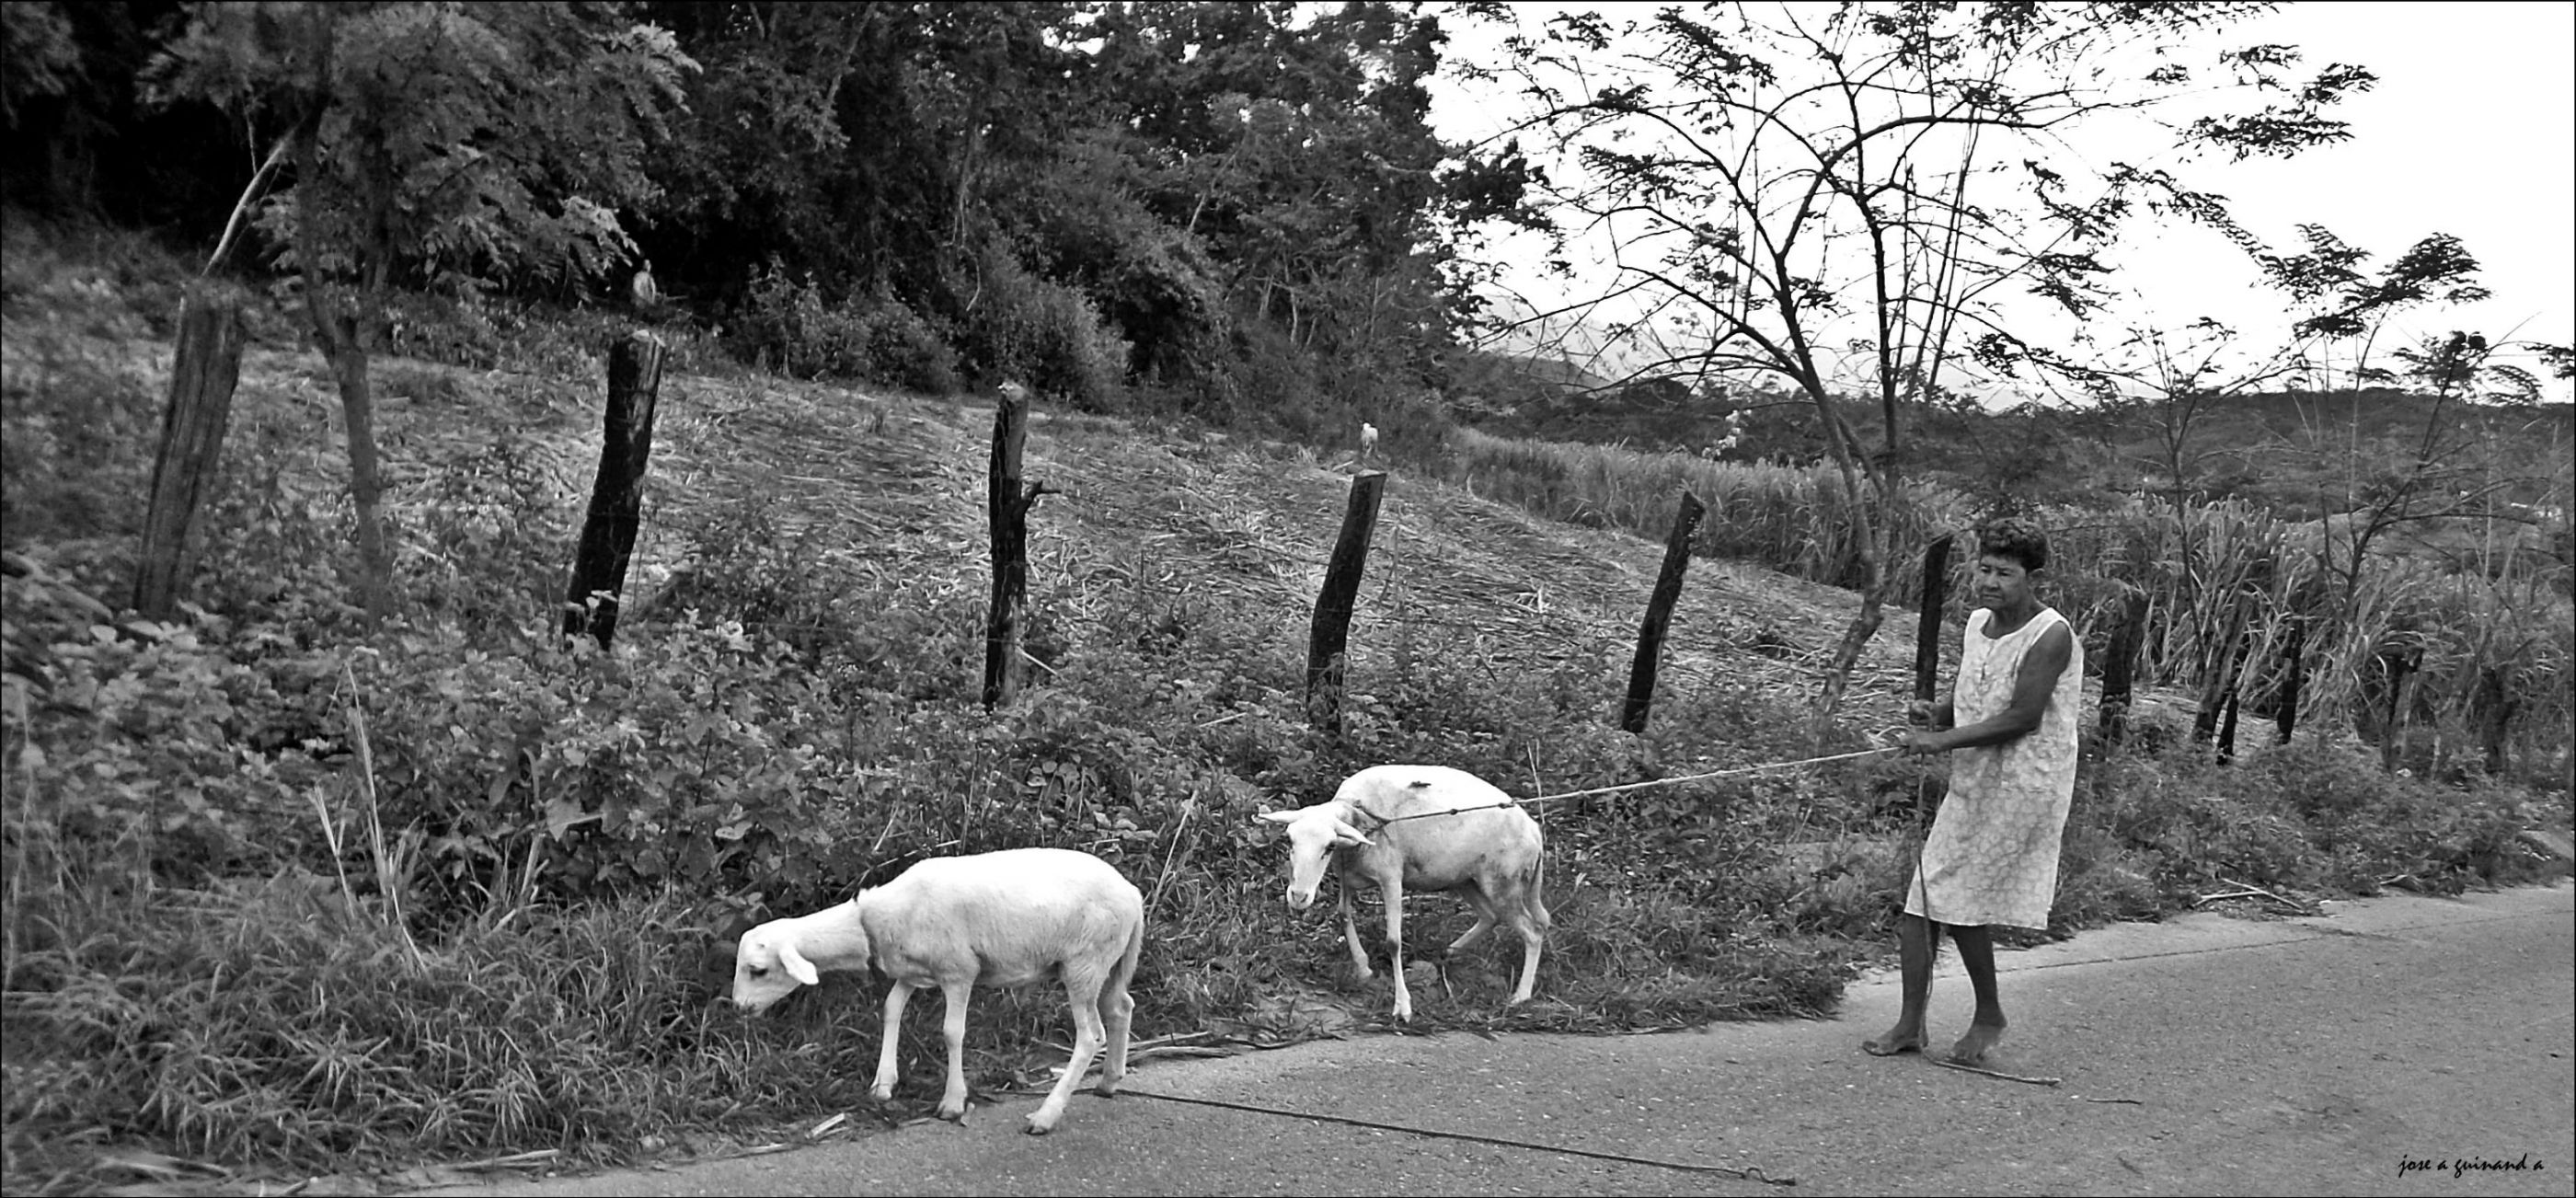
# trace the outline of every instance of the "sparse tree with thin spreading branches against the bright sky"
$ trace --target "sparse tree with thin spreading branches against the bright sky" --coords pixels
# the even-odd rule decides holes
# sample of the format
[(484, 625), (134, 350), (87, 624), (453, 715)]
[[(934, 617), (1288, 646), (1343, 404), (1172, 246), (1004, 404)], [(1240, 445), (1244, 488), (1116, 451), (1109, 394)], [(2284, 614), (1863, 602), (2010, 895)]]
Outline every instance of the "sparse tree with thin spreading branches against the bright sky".
[[(2221, 196), (2172, 170), (2074, 152), (2079, 131), (2205, 95), (2182, 52), (2236, 5), (1860, 3), (1592, 13), (1517, 36), (1515, 72), (1569, 170), (1553, 198), (1602, 234), (1602, 304), (1638, 374), (1777, 376), (1814, 407), (1862, 528), (1862, 598), (1834, 649), (1832, 714), (1899, 575), (1909, 410), (1955, 389), (1955, 358), (2012, 376), (2107, 299), (2105, 252), (2138, 214), (2249, 245)], [(2290, 77), (2290, 46), (2215, 52), (2249, 113), (2177, 121), (2174, 149), (2293, 155), (2349, 137), (2326, 111), (2372, 75)], [(2197, 100), (2192, 100), (2197, 103)], [(1842, 420), (1842, 376), (1875, 435)]]

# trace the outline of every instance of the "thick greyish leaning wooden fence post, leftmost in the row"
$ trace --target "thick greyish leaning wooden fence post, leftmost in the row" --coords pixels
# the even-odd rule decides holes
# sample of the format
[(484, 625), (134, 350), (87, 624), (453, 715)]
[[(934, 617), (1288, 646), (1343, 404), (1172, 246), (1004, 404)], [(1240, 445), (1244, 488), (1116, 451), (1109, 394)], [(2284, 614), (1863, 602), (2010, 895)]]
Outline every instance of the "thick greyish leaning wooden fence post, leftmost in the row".
[(144, 546), (134, 562), (134, 611), (162, 621), (178, 611), (196, 564), (196, 513), (224, 459), (232, 389), (242, 379), (242, 299), (227, 286), (196, 286), (180, 301), (178, 353), (162, 438), (152, 456)]

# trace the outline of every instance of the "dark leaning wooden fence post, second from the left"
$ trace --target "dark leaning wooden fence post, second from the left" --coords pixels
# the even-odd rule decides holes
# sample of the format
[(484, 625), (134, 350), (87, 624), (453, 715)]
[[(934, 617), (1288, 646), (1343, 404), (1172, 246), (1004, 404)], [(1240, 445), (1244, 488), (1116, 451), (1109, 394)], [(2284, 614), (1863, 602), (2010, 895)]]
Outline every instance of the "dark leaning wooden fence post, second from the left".
[(572, 554), (564, 595), (564, 639), (590, 634), (608, 647), (618, 631), (618, 595), (626, 562), (644, 523), (644, 466), (652, 461), (652, 420), (662, 397), (659, 338), (634, 332), (608, 348), (608, 415), (600, 423), (600, 477), (590, 484), (582, 544)]

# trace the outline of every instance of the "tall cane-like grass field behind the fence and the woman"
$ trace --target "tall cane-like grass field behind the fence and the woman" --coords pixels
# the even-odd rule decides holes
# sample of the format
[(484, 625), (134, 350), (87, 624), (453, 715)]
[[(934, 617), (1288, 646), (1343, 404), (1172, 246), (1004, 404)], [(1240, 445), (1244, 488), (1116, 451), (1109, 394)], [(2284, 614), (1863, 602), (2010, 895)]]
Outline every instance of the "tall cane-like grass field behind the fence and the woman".
[[(1667, 533), (1674, 497), (1687, 487), (1708, 502), (1695, 554), (1749, 559), (1839, 587), (1862, 582), (1852, 497), (1829, 464), (1736, 464), (1476, 430), (1458, 430), (1414, 461), (1473, 495), (1643, 538)], [(1965, 497), (1922, 487), (1893, 520), (1899, 544), (1927, 546), (1976, 515)], [(2458, 765), (2478, 755), (2486, 724), (2501, 719), (2509, 757), (2527, 778), (2568, 770), (2558, 737), (2576, 721), (2576, 616), (2566, 567), (2506, 564), (2478, 575), (2380, 551), (2360, 569), (2334, 569), (2329, 554), (2344, 546), (2326, 538), (2342, 533), (2239, 500), (2123, 497), (2112, 508), (2061, 508), (2043, 518), (2056, 554), (2053, 603), (2087, 631), (2094, 670), (2130, 595), (2143, 595), (2138, 678), (2148, 685), (2182, 688), (2215, 706), (2233, 683), (2246, 716), (2277, 716), (2290, 678), (2282, 652), (2298, 634), (2306, 675), (2298, 724), (2311, 732), (2406, 739), (2411, 727), (2429, 742), (2421, 765)], [(1953, 559), (1958, 577), (1971, 562), (1968, 554)], [(1965, 587), (1953, 585), (1950, 595), (1947, 618), (1958, 621)], [(1891, 603), (1917, 600), (1917, 575), (1899, 569)], [(2398, 727), (2383, 727), (2393, 657), (2416, 667), (2396, 696)]]

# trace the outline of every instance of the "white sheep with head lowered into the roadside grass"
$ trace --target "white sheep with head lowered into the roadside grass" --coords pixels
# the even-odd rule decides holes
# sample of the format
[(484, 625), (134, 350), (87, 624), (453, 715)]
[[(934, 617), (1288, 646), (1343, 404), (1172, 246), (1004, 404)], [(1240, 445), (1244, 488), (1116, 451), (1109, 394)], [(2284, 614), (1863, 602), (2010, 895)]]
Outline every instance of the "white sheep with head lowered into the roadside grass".
[(734, 1005), (768, 1010), (824, 969), (868, 969), (894, 979), (886, 992), (886, 1041), (876, 1056), (876, 1100), (894, 1098), (894, 1043), (904, 1002), (917, 987), (948, 1000), (948, 1092), (940, 1118), (966, 1118), (966, 994), (976, 984), (1025, 987), (1064, 979), (1074, 1007), (1074, 1056), (1056, 1090), (1028, 1116), (1043, 1136), (1064, 1118), (1064, 1100), (1092, 1067), (1108, 1023), (1100, 1092), (1126, 1077), (1128, 1018), (1136, 1000), (1136, 953), (1144, 951), (1144, 897), (1110, 863), (1066, 848), (1010, 848), (966, 858), (933, 858), (886, 886), (814, 915), (770, 920), (734, 951)]

